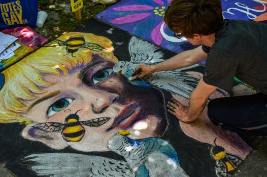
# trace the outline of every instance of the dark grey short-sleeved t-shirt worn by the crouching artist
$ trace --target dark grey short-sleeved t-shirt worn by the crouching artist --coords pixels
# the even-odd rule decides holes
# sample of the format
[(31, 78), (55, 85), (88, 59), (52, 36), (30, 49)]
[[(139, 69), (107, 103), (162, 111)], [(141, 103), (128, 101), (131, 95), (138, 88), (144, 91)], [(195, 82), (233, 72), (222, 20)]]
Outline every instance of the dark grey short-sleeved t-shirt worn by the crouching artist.
[(230, 90), (236, 76), (267, 94), (267, 24), (225, 20), (208, 53), (203, 80)]

